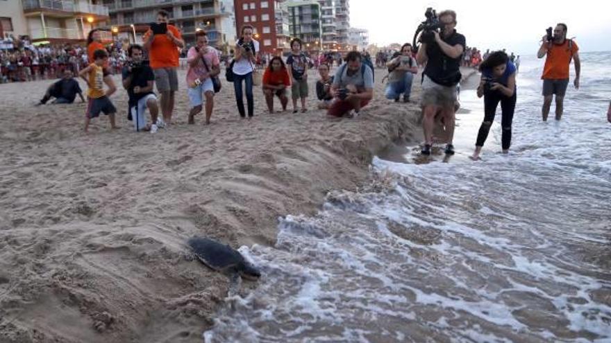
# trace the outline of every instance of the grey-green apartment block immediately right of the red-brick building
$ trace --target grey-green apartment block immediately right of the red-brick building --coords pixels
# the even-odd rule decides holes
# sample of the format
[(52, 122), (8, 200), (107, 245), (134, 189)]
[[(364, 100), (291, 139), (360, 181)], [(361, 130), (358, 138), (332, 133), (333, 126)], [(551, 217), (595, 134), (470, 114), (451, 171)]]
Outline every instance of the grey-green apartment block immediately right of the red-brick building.
[(291, 1), (285, 4), (289, 12), (290, 37), (303, 42), (305, 51), (322, 49), (321, 5), (318, 1)]

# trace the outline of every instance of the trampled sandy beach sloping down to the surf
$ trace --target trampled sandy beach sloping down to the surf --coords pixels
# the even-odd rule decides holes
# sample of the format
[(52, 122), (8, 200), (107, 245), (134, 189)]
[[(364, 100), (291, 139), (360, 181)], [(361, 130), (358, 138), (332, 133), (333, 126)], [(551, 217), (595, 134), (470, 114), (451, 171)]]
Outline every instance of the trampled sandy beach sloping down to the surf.
[(51, 81), (1, 85), (0, 340), (200, 342), (228, 279), (187, 238), (273, 245), (279, 216), (315, 213), (328, 191), (365, 184), (392, 141), (419, 140), (417, 103), (383, 98), (383, 74), (353, 120), (315, 109), (313, 71), (308, 113), (268, 114), (255, 89), (251, 121), (224, 82), (209, 126), (187, 125), (182, 82), (157, 134), (132, 131), (123, 89), (121, 128), (102, 117), (85, 134), (80, 100), (33, 105)]

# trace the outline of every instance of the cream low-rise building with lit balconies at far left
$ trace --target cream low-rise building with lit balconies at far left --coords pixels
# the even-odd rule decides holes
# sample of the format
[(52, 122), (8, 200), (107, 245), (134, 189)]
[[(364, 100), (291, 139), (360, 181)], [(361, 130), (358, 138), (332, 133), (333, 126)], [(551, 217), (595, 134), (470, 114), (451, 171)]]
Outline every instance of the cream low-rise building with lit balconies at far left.
[[(108, 8), (93, 0), (0, 1), (0, 38), (28, 35), (32, 42), (84, 42), (108, 20)], [(110, 33), (108, 34), (110, 37)]]

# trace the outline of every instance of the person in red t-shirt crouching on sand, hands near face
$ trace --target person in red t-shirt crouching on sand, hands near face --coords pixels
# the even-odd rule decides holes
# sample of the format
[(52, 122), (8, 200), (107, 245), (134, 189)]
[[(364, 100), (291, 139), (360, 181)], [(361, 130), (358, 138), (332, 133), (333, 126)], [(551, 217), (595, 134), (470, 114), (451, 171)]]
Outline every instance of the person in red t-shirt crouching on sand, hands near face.
[(289, 98), (287, 97), (287, 87), (291, 85), (291, 79), (287, 68), (279, 56), (274, 56), (269, 61), (269, 67), (263, 73), (262, 81), (263, 94), (269, 113), (274, 113), (274, 96), (280, 98), (283, 112), (286, 111)]

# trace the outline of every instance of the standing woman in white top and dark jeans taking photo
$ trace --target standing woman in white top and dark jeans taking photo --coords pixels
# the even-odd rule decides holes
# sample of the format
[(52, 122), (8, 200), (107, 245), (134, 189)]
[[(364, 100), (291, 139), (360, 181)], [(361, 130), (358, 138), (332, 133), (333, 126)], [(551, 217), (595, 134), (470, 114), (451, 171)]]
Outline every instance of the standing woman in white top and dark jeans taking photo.
[(238, 39), (235, 46), (235, 56), (233, 58), (233, 90), (235, 91), (235, 102), (241, 118), (246, 118), (244, 112), (244, 97), (242, 96), (242, 81), (246, 87), (246, 102), (248, 103), (249, 118), (255, 112), (255, 102), (253, 99), (253, 72), (257, 62), (257, 52), (259, 42), (253, 39), (254, 28), (250, 25), (242, 26), (242, 37)]

